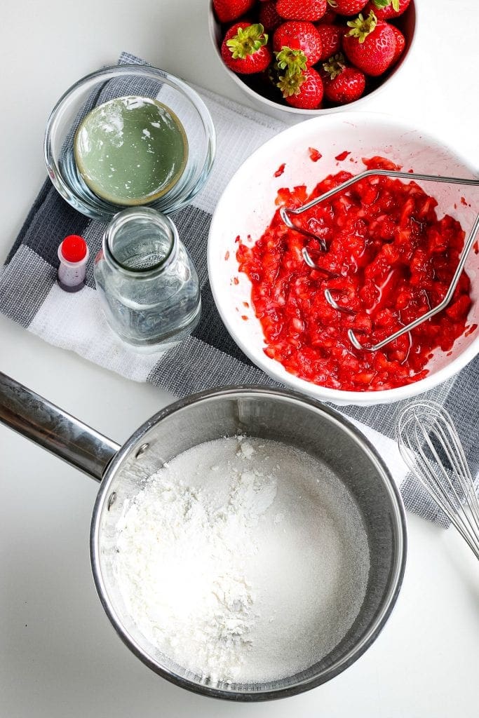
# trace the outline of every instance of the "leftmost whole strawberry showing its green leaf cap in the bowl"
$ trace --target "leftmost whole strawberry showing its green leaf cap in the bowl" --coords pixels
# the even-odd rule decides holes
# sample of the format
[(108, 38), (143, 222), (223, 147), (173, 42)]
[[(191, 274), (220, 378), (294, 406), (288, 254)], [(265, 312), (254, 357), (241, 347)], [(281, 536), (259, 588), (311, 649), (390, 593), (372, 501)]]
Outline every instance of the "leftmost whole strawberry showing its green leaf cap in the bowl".
[(268, 35), (261, 24), (237, 22), (225, 34), (221, 57), (225, 65), (235, 73), (261, 73), (273, 59), (267, 42)]

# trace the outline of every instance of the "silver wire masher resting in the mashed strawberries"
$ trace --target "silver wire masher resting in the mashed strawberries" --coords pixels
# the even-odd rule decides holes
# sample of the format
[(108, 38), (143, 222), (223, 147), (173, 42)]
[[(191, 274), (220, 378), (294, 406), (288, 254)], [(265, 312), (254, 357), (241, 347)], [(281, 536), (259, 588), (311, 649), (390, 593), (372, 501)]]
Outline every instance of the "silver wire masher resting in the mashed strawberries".
[[(333, 187), (332, 190), (328, 190), (324, 194), (320, 195), (319, 197), (315, 197), (314, 200), (310, 200), (310, 202), (306, 202), (306, 204), (301, 205), (301, 207), (297, 208), (288, 208), (288, 207), (282, 207), (279, 210), (279, 215), (282, 218), (282, 221), (284, 222), (289, 229), (293, 229), (295, 232), (299, 232), (300, 234), (303, 234), (304, 236), (308, 238), (315, 238), (320, 242), (321, 251), (327, 251), (326, 243), (324, 238), (316, 236), (314, 233), (303, 229), (301, 227), (297, 227), (292, 222), (292, 219), (290, 215), (300, 215), (303, 212), (307, 212), (307, 210), (310, 210), (312, 207), (315, 207), (319, 202), (325, 202), (325, 200), (329, 200), (330, 197), (333, 195), (337, 195), (340, 192), (343, 192), (351, 185), (354, 185), (355, 182), (359, 182), (360, 180), (365, 179), (365, 177), (373, 177), (377, 175), (383, 175), (386, 177), (400, 177), (402, 179), (407, 180), (421, 180), (421, 181), (430, 181), (430, 182), (447, 182), (451, 185), (470, 185), (473, 187), (479, 186), (479, 180), (468, 180), (463, 179), (461, 177), (437, 177), (433, 174), (417, 174), (416, 172), (399, 172), (393, 169), (366, 169), (365, 172), (361, 172), (361, 174), (356, 174), (355, 177), (350, 177), (349, 180), (345, 180), (345, 182), (342, 182), (338, 187)], [(386, 339), (383, 339), (381, 342), (378, 342), (377, 344), (374, 344), (372, 346), (365, 346), (361, 344), (361, 342), (358, 340), (358, 337), (356, 337), (355, 333), (352, 329), (348, 330), (348, 338), (356, 349), (361, 349), (367, 352), (376, 352), (379, 349), (382, 349), (386, 345), (388, 345), (390, 342), (394, 342), (394, 340), (399, 339), (399, 337), (402, 337), (402, 335), (407, 334), (408, 332), (411, 332), (411, 330), (415, 329), (416, 327), (419, 327), (423, 322), (426, 322), (431, 317), (434, 317), (435, 314), (439, 314), (439, 312), (442, 312), (443, 309), (447, 307), (447, 305), (450, 303), (452, 299), (452, 295), (454, 294), (455, 288), (457, 286), (457, 282), (459, 281), (460, 275), (462, 273), (462, 270), (464, 269), (466, 260), (468, 258), (468, 255), (470, 253), (470, 250), (474, 244), (475, 238), (479, 231), (479, 214), (475, 218), (474, 224), (472, 229), (470, 230), (470, 234), (468, 236), (468, 239), (465, 241), (464, 246), (462, 247), (462, 252), (460, 253), (459, 261), (457, 263), (457, 267), (454, 273), (454, 276), (452, 277), (451, 283), (447, 289), (447, 292), (445, 294), (444, 299), (442, 299), (442, 302), (437, 304), (435, 307), (432, 307), (429, 309), (429, 312), (426, 312), (425, 314), (422, 314), (421, 317), (417, 317), (414, 322), (409, 322), (408, 325), (405, 327), (401, 327), (401, 329), (394, 332), (394, 334), (391, 334), (389, 337), (386, 337)], [(326, 269), (323, 269), (322, 267), (317, 267), (315, 262), (312, 260), (310, 253), (308, 253), (307, 248), (304, 247), (302, 249), (302, 256), (304, 258), (304, 261), (306, 264), (312, 268), (320, 269), (321, 271), (325, 272), (325, 274), (329, 274), (330, 276), (338, 276), (337, 274), (334, 274), (332, 272), (328, 272)], [(333, 309), (337, 309), (338, 312), (345, 312), (348, 314), (355, 314), (351, 309), (348, 309), (347, 307), (341, 307), (340, 304), (335, 302), (335, 300), (332, 298), (332, 294), (329, 289), (325, 289), (325, 299), (328, 304)]]

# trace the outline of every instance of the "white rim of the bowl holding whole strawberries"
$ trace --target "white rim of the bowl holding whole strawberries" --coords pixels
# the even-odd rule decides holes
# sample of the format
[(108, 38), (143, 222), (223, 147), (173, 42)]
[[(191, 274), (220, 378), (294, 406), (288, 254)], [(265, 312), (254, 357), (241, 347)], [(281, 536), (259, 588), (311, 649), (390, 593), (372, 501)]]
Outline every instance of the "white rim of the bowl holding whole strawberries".
[[(269, 100), (269, 98), (264, 97), (263, 95), (260, 95), (256, 92), (256, 90), (252, 90), (249, 85), (247, 85), (243, 80), (241, 80), (241, 75), (237, 75), (236, 73), (233, 73), (233, 70), (230, 70), (229, 67), (226, 67), (225, 63), (223, 62), (223, 57), (221, 57), (220, 47), (218, 47), (218, 42), (216, 39), (216, 29), (220, 26), (220, 23), (215, 18), (214, 10), (213, 10), (213, 0), (209, 0), (209, 6), (208, 6), (208, 31), (210, 34), (210, 40), (211, 44), (213, 45), (213, 48), (215, 50), (215, 55), (220, 61), (223, 70), (225, 70), (225, 73), (229, 75), (231, 80), (233, 80), (233, 83), (246, 95), (248, 95), (249, 98), (251, 98), (252, 101), (256, 103), (261, 103), (261, 105), (264, 108), (264, 111), (273, 110), (275, 112), (281, 111), (286, 113), (288, 116), (299, 116), (301, 118), (312, 118), (316, 116), (325, 116), (330, 115), (333, 113), (338, 112), (344, 112), (348, 108), (353, 108), (355, 111), (358, 106), (362, 105), (363, 103), (366, 103), (369, 98), (373, 98), (379, 93), (382, 92), (384, 88), (389, 84), (389, 80), (391, 80), (393, 77), (396, 77), (397, 73), (399, 73), (406, 64), (406, 61), (411, 55), (411, 50), (413, 50), (413, 47), (416, 46), (417, 41), (417, 17), (418, 17), (418, 6), (419, 3), (417, 3), (415, 0), (411, 0), (411, 3), (409, 4), (407, 11), (410, 11), (413, 15), (414, 24), (412, 28), (411, 37), (409, 39), (409, 47), (406, 48), (406, 52), (403, 53), (403, 56), (399, 59), (399, 62), (396, 63), (396, 66), (392, 68), (391, 73), (388, 75), (386, 80), (384, 80), (381, 85), (378, 85), (377, 88), (374, 88), (370, 93), (367, 95), (362, 95), (358, 100), (355, 100), (353, 102), (347, 103), (345, 105), (338, 105), (337, 107), (328, 107), (328, 108), (320, 108), (317, 110), (304, 110), (302, 108), (295, 108), (289, 105), (283, 105), (279, 102), (274, 102), (273, 100)], [(409, 10), (410, 9), (410, 10)], [(233, 21), (232, 21), (233, 22)], [(238, 20), (235, 20), (234, 22), (238, 22)], [(286, 21), (285, 21), (286, 22)], [(285, 118), (286, 119), (286, 118)]]

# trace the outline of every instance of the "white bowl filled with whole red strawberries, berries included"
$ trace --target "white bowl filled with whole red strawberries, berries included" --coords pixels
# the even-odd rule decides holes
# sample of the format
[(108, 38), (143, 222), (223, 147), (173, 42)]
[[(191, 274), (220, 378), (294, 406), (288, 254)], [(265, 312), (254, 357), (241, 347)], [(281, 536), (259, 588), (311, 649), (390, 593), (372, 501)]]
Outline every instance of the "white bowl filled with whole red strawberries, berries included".
[(415, 27), (414, 0), (210, 0), (220, 62), (274, 114), (356, 107), (404, 65)]

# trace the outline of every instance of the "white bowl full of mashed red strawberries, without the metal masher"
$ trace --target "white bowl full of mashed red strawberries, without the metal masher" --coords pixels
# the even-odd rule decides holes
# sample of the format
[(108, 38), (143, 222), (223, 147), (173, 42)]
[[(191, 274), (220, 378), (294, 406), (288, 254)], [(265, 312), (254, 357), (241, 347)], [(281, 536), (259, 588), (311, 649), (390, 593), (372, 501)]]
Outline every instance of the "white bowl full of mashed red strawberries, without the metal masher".
[(477, 178), (468, 159), (396, 118), (315, 117), (243, 163), (208, 239), (213, 297), (241, 350), (279, 383), (335, 404), (416, 396), (479, 353), (477, 241), (447, 308), (368, 350), (445, 297), (478, 212), (475, 187), (374, 175), (297, 215), (309, 236), (282, 222), (281, 207), (303, 205), (366, 167)]

